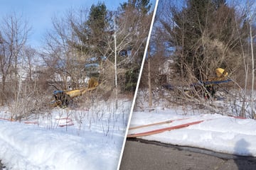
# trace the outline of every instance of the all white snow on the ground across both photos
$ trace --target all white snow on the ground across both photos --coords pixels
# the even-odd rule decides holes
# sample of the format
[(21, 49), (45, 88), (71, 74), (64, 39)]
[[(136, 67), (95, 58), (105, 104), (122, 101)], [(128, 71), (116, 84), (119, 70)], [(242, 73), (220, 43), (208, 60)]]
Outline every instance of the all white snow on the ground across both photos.
[[(129, 99), (119, 100), (117, 109), (114, 101), (95, 102), (90, 108), (79, 110), (56, 108), (35, 114), (21, 123), (4, 120), (9, 119), (11, 113), (8, 108), (1, 108), (1, 163), (12, 170), (117, 169), (131, 103)], [(146, 102), (141, 103), (146, 108)], [(174, 121), (129, 130), (128, 134), (203, 120), (186, 128), (141, 138), (256, 157), (255, 120), (228, 116), (230, 113), (220, 115), (191, 106), (162, 103), (160, 107), (160, 104), (154, 104), (154, 108), (134, 111), (129, 127)]]

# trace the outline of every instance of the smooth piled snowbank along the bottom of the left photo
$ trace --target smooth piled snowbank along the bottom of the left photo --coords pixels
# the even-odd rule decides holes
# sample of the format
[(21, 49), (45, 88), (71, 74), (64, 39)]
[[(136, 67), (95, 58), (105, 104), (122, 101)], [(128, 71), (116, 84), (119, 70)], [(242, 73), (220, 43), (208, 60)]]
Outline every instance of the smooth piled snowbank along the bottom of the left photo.
[(110, 150), (108, 144), (99, 146), (95, 140), (97, 137), (85, 139), (36, 125), (0, 121), (0, 157), (11, 169), (114, 168), (109, 160), (118, 159), (118, 151)]

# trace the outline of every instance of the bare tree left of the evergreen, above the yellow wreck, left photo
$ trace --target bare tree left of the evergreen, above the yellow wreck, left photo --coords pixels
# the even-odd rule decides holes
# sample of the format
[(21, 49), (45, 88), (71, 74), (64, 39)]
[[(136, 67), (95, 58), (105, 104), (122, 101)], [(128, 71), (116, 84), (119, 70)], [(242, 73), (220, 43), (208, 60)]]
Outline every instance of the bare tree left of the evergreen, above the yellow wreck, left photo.
[[(43, 60), (53, 72), (50, 79), (59, 89), (68, 89), (68, 86), (79, 88), (82, 79), (85, 79), (85, 64), (89, 56), (78, 48), (80, 40), (75, 34), (74, 23), (83, 21), (84, 11), (78, 16), (75, 11), (70, 10), (63, 18), (53, 18), (52, 32), (48, 31), (46, 36), (46, 50)], [(63, 82), (59, 84), (59, 82)]]

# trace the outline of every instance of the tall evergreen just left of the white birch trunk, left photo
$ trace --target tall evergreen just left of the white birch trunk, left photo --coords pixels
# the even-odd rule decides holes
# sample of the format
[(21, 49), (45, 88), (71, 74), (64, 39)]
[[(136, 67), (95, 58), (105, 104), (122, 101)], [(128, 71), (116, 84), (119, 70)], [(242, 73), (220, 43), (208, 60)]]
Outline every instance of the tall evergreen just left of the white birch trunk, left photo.
[(102, 50), (106, 47), (108, 11), (104, 3), (92, 4), (88, 18), (84, 23), (71, 22), (75, 35), (80, 42), (73, 45), (80, 51), (92, 57), (102, 57)]

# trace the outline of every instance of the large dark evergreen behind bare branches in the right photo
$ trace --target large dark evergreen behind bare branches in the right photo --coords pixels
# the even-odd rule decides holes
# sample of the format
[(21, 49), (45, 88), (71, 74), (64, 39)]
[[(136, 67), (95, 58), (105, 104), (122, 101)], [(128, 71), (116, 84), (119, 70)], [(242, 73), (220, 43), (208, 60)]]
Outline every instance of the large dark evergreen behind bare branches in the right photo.
[(166, 13), (171, 13), (171, 22), (159, 17), (169, 45), (176, 48), (176, 68), (182, 77), (193, 72), (196, 79), (206, 79), (216, 67), (228, 67), (228, 56), (221, 58), (239, 48), (240, 35), (235, 28), (238, 16), (225, 0), (188, 0), (180, 10), (171, 6)]

